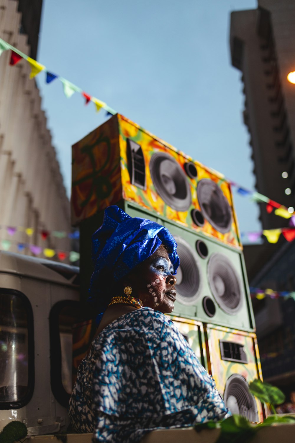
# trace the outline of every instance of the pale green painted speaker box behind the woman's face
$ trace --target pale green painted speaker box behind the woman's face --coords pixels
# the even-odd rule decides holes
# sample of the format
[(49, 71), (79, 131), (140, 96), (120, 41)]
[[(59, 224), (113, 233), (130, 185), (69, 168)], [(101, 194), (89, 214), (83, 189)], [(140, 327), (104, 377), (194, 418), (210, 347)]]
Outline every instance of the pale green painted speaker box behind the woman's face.
[(125, 202), (124, 206), (131, 217), (157, 221), (176, 239), (180, 267), (173, 315), (239, 330), (255, 329), (241, 251), (163, 217), (154, 217), (134, 204)]

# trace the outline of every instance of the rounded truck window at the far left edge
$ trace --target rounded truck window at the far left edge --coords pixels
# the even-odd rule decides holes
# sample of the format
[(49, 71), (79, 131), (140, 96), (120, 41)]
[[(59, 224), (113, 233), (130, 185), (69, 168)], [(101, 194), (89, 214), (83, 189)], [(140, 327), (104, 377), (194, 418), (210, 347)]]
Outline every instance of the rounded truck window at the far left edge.
[(33, 313), (19, 291), (0, 288), (0, 409), (23, 407), (34, 388)]

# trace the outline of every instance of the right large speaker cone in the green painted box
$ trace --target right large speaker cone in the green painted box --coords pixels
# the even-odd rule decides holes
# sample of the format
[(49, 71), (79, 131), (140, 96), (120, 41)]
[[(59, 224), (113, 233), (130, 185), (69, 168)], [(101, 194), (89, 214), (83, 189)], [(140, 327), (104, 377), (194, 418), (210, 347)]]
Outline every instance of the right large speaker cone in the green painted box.
[(215, 253), (208, 261), (208, 281), (216, 302), (227, 314), (239, 311), (241, 287), (236, 270), (223, 254)]

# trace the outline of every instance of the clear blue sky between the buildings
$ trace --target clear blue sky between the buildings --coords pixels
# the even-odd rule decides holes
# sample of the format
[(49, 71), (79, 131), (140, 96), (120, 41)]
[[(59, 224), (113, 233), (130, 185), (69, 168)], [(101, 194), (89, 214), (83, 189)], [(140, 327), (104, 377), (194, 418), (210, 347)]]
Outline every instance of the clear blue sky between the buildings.
[[(38, 61), (86, 93), (253, 189), (242, 122), (241, 72), (231, 66), (230, 12), (254, 0), (43, 0)], [(37, 77), (70, 193), (71, 146), (106, 119), (61, 82)], [(260, 229), (256, 204), (234, 201), (242, 232)]]

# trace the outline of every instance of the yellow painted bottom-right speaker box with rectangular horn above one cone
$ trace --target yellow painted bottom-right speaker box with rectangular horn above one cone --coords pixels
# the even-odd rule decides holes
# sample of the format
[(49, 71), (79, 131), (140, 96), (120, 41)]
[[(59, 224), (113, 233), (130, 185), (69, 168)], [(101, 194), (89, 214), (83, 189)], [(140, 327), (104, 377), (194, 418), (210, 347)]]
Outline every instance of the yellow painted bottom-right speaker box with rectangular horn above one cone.
[(208, 370), (226, 406), (250, 421), (263, 421), (264, 405), (249, 391), (250, 381), (262, 380), (256, 335), (212, 325), (204, 331)]

